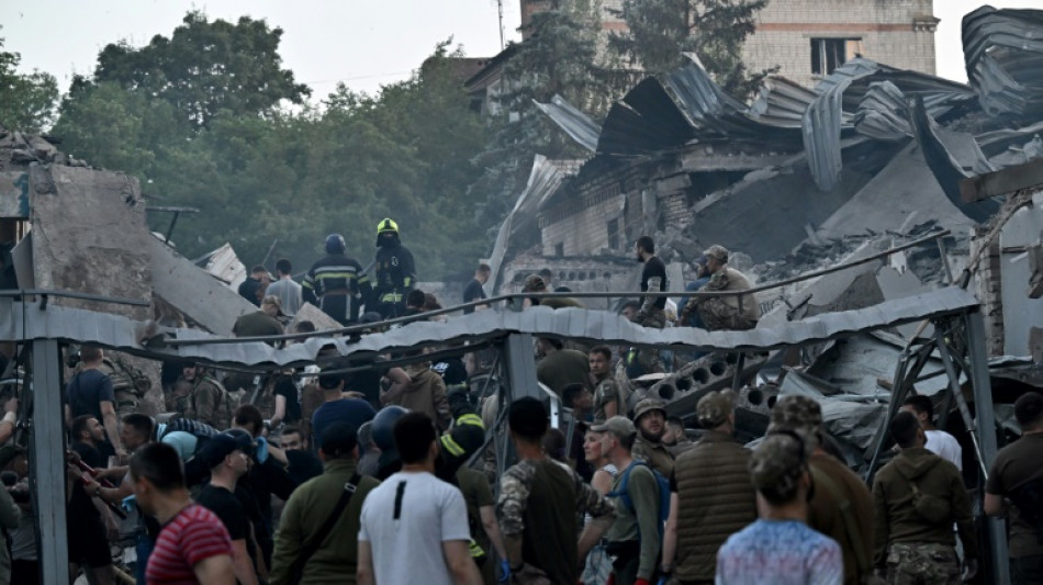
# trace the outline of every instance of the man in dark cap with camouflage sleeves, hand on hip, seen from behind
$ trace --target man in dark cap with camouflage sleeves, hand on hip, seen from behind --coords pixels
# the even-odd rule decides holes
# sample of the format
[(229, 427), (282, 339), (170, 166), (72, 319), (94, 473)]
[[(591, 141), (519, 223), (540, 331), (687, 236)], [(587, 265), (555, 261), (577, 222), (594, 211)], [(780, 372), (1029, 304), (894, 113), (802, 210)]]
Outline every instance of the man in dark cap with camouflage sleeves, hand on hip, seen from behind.
[[(612, 526), (612, 504), (568, 465), (547, 457), (547, 408), (536, 398), (514, 401), (507, 413), (511, 441), (519, 461), (500, 482), (496, 515), (507, 549), (502, 567), (519, 583), (575, 583), (591, 548)], [(592, 517), (577, 535), (576, 514)], [(536, 581), (531, 581), (536, 582)]]

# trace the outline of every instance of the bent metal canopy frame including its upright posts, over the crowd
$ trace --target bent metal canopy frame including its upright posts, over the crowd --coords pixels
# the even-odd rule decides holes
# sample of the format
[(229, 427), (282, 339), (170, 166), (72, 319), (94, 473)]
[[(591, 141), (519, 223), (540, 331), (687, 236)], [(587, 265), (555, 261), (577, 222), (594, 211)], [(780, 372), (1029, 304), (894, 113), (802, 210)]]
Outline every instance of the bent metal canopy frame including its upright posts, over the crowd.
[[(61, 294), (55, 292), (54, 296), (61, 296)], [(340, 359), (355, 358), (366, 361), (388, 350), (474, 340), (480, 345), (495, 347), (502, 356), (496, 364), (498, 372), (493, 373), (498, 373), (506, 384), (503, 385), (500, 416), (496, 424), (489, 429), (489, 434), (495, 441), (497, 464), (503, 471), (502, 468), (511, 455), (509, 441), (506, 439), (506, 434), (502, 432), (506, 420), (504, 416), (506, 405), (520, 396), (541, 395), (537, 383), (536, 365), (531, 359), (534, 336), (607, 340), (614, 344), (643, 347), (669, 345), (745, 351), (820, 342), (924, 318), (939, 324), (962, 324), (960, 329), (935, 327), (938, 331), (950, 331), (950, 334), (962, 331), (963, 336), (958, 339), (944, 338), (945, 342), (942, 345), (931, 339), (926, 344), (934, 344), (931, 346), (931, 351), (940, 350), (953, 356), (951, 369), (966, 372), (973, 381), (980, 451), (983, 457), (994, 457), (996, 438), (985, 429), (985, 427), (991, 428), (988, 421), (992, 420), (992, 408), (983, 346), (984, 324), (977, 301), (958, 288), (942, 289), (864, 310), (825, 314), (800, 322), (786, 323), (773, 329), (752, 331), (646, 329), (605, 312), (574, 308), (552, 311), (547, 307), (535, 307), (524, 312), (501, 314), (490, 311), (479, 312), (450, 323), (415, 323), (384, 334), (368, 335), (361, 339), (313, 337), (293, 348), (282, 350), (277, 350), (259, 339), (232, 340), (188, 329), (167, 329), (166, 335), (160, 335), (162, 331), (158, 331), (152, 324), (134, 322), (122, 316), (0, 297), (0, 338), (29, 344), (32, 349), (32, 383), (24, 387), (31, 390), (30, 400), (35, 403), (33, 405), (35, 416), (31, 423), (33, 427), (32, 462), (33, 473), (35, 473), (34, 497), (40, 522), (42, 576), (46, 584), (61, 585), (68, 583), (68, 550), (65, 539), (66, 473), (64, 458), (60, 457), (65, 441), (60, 392), (59, 346), (61, 344), (92, 342), (157, 360), (198, 360), (216, 365), (274, 370), (287, 364), (314, 363), (321, 359), (319, 352), (329, 347), (336, 349)], [(165, 342), (170, 340), (167, 335), (172, 335), (178, 341), (191, 339), (192, 342), (168, 344)], [(329, 333), (327, 331), (326, 335)], [(908, 356), (921, 355), (918, 353), (919, 349), (921, 348), (910, 350)], [(423, 357), (417, 359), (423, 359)], [(950, 375), (953, 374), (950, 373)], [(917, 374), (910, 371), (899, 381), (915, 380), (916, 376)], [(896, 384), (896, 389), (898, 387)], [(897, 402), (900, 401), (895, 400), (895, 403)], [(1001, 554), (1006, 551), (1002, 525), (997, 520), (990, 520), (989, 529), (994, 559), (1006, 561), (1006, 555)], [(1005, 571), (1006, 564), (995, 561), (992, 564), (992, 574), (1002, 574), (998, 571)]]

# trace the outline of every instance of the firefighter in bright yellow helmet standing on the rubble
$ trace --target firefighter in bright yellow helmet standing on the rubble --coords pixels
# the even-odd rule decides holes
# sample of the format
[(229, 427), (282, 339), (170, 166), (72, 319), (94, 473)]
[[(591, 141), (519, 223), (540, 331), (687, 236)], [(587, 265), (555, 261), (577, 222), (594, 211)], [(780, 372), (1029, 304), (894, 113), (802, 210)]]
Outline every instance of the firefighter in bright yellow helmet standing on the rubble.
[(416, 284), (413, 255), (399, 239), (399, 224), (391, 218), (377, 224), (377, 285), (373, 307), (383, 318), (405, 314), (405, 297)]

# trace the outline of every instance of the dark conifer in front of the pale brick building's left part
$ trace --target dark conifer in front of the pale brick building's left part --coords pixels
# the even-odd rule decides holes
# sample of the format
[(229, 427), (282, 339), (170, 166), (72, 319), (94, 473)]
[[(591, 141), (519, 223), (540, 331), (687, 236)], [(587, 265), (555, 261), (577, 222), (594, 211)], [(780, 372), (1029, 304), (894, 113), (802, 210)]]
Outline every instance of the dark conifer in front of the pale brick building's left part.
[(756, 29), (756, 13), (769, 0), (624, 0), (617, 11), (629, 32), (613, 35), (608, 46), (646, 75), (680, 67), (682, 53), (695, 53), (721, 88), (740, 99), (751, 97), (767, 75), (750, 72), (742, 45)]

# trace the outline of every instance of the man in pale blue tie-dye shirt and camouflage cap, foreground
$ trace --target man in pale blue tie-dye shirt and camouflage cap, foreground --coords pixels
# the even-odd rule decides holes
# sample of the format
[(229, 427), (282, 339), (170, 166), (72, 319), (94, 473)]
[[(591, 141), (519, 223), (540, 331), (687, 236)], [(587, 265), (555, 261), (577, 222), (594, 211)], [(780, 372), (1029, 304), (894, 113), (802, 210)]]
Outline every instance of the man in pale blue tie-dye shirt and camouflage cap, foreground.
[(840, 545), (805, 524), (812, 484), (804, 441), (790, 432), (769, 435), (749, 469), (761, 517), (717, 551), (716, 582), (840, 585)]

